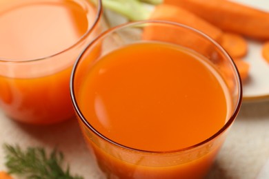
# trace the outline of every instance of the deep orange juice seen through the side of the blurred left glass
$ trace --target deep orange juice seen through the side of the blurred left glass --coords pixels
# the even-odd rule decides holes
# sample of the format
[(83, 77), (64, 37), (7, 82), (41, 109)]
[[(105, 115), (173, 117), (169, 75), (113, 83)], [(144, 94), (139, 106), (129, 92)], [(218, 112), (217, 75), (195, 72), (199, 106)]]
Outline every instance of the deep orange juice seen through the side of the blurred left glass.
[(0, 76), (1, 108), (15, 120), (46, 125), (74, 115), (69, 98), (71, 69), (41, 78)]

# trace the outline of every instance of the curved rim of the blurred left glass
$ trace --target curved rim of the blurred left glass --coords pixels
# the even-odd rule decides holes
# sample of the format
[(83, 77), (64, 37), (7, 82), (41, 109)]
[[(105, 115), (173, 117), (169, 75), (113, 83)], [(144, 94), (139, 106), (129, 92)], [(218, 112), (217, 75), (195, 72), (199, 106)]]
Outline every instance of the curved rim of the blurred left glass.
[[(43, 0), (46, 1), (46, 0)], [(72, 0), (72, 1), (77, 1), (77, 0)], [(83, 0), (85, 3), (90, 3), (89, 0)], [(50, 54), (47, 56), (42, 56), (42, 57), (38, 57), (38, 58), (34, 58), (34, 59), (8, 59), (8, 58), (2, 58), (0, 56), (0, 62), (9, 62), (9, 63), (27, 63), (27, 62), (33, 62), (33, 61), (41, 61), (41, 60), (45, 60), (45, 59), (50, 59), (53, 56), (57, 56), (59, 54), (63, 54), (64, 52), (67, 52), (68, 50), (74, 48), (76, 45), (78, 45), (79, 43), (81, 43), (81, 41), (83, 41), (84, 39), (86, 39), (86, 37), (92, 32), (92, 30), (94, 30), (94, 28), (97, 26), (97, 23), (99, 22), (99, 20), (101, 19), (101, 13), (103, 11), (102, 8), (102, 1), (101, 0), (97, 0), (98, 1), (98, 5), (97, 5), (97, 13), (95, 14), (94, 17), (94, 23), (92, 23), (92, 25), (90, 26), (90, 28), (88, 28), (88, 30), (79, 37), (79, 39), (77, 39), (76, 42), (74, 42), (72, 45), (70, 45), (68, 48), (65, 48), (59, 52), (56, 52), (54, 54)], [(21, 1), (20, 3), (25, 3), (23, 1)], [(35, 2), (35, 3), (40, 3), (40, 2)], [(81, 5), (79, 5), (81, 6)]]

